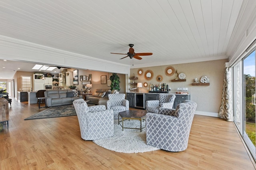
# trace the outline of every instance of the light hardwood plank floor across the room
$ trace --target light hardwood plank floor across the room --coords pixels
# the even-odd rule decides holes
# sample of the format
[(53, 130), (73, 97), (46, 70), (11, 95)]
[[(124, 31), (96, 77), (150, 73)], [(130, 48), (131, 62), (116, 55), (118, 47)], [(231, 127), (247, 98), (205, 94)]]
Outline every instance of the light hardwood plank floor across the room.
[(195, 115), (183, 152), (120, 153), (80, 137), (76, 116), (26, 120), (45, 108), (12, 99), (9, 129), (0, 132), (0, 169), (253, 170), (232, 122)]

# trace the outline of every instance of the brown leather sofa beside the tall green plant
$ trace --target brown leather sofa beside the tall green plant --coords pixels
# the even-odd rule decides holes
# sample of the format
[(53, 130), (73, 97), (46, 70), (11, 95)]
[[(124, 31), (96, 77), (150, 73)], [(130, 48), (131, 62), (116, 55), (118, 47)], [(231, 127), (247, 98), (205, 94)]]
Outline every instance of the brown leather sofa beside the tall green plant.
[[(87, 103), (107, 106), (108, 94), (111, 93), (111, 92), (108, 92), (108, 90), (109, 89), (96, 89), (94, 95), (86, 96), (86, 100), (89, 100), (89, 102)], [(104, 92), (106, 92), (106, 94), (102, 98), (102, 94)]]

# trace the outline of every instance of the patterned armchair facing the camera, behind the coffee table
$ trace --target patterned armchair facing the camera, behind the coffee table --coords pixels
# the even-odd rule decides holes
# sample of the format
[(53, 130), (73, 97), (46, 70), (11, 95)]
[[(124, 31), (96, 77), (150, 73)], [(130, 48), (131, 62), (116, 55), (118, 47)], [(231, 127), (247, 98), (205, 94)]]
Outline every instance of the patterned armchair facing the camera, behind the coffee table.
[(118, 119), (118, 113), (129, 110), (129, 101), (125, 99), (125, 94), (109, 94), (107, 109), (114, 111), (114, 119)]

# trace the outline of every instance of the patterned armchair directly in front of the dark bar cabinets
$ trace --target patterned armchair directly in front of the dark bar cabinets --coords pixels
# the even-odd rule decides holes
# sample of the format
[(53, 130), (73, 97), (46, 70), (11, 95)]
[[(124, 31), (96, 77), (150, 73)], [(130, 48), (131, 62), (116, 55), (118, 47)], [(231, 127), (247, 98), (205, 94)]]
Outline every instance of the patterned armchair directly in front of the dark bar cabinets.
[(159, 94), (159, 100), (146, 101), (148, 113), (158, 113), (160, 107), (172, 109), (176, 96), (174, 94)]

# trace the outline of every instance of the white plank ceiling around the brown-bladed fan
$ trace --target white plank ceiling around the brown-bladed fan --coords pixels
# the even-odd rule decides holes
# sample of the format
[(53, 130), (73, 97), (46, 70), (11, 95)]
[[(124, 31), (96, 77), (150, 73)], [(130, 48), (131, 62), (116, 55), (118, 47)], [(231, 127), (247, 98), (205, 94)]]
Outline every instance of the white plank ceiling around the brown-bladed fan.
[[(120, 64), (224, 59), (242, 0), (1, 0), (0, 35)], [(153, 53), (142, 60), (135, 53)]]

